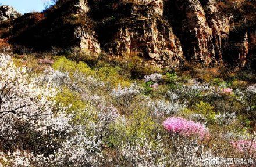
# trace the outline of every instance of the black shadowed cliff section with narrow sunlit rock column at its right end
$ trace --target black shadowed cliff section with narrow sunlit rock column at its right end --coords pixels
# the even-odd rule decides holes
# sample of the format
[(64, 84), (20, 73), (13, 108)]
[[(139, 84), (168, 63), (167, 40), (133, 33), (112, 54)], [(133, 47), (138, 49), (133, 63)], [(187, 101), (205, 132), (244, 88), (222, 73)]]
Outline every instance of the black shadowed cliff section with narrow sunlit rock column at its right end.
[[(87, 17), (89, 10), (87, 1), (72, 0), (58, 1), (56, 6), (42, 13), (38, 21), (35, 21), (38, 14), (24, 14), (13, 20), (14, 35), (9, 42), (38, 50), (51, 49), (52, 46), (66, 49), (77, 46), (98, 54), (101, 48), (92, 21)], [(26, 25), (27, 28), (20, 28)]]

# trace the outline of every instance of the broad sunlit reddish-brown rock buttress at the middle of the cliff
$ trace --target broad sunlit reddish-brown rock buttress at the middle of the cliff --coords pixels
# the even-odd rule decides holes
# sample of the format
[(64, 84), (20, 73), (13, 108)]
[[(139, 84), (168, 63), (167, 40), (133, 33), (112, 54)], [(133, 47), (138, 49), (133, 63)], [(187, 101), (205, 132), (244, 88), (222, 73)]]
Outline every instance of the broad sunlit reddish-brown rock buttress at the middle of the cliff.
[(162, 68), (176, 68), (184, 61), (180, 41), (163, 19), (162, 0), (123, 1), (116, 10), (126, 12), (107, 26), (109, 31), (116, 29), (103, 45), (109, 53), (118, 56), (140, 53), (148, 63)]

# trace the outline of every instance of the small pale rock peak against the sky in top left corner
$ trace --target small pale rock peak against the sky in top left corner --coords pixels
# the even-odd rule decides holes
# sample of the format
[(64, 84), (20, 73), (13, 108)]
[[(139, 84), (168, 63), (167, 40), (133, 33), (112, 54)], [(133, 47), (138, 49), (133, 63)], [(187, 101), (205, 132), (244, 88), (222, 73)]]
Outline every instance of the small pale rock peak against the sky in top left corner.
[(15, 19), (21, 16), (13, 7), (10, 6), (0, 6), (0, 20)]

